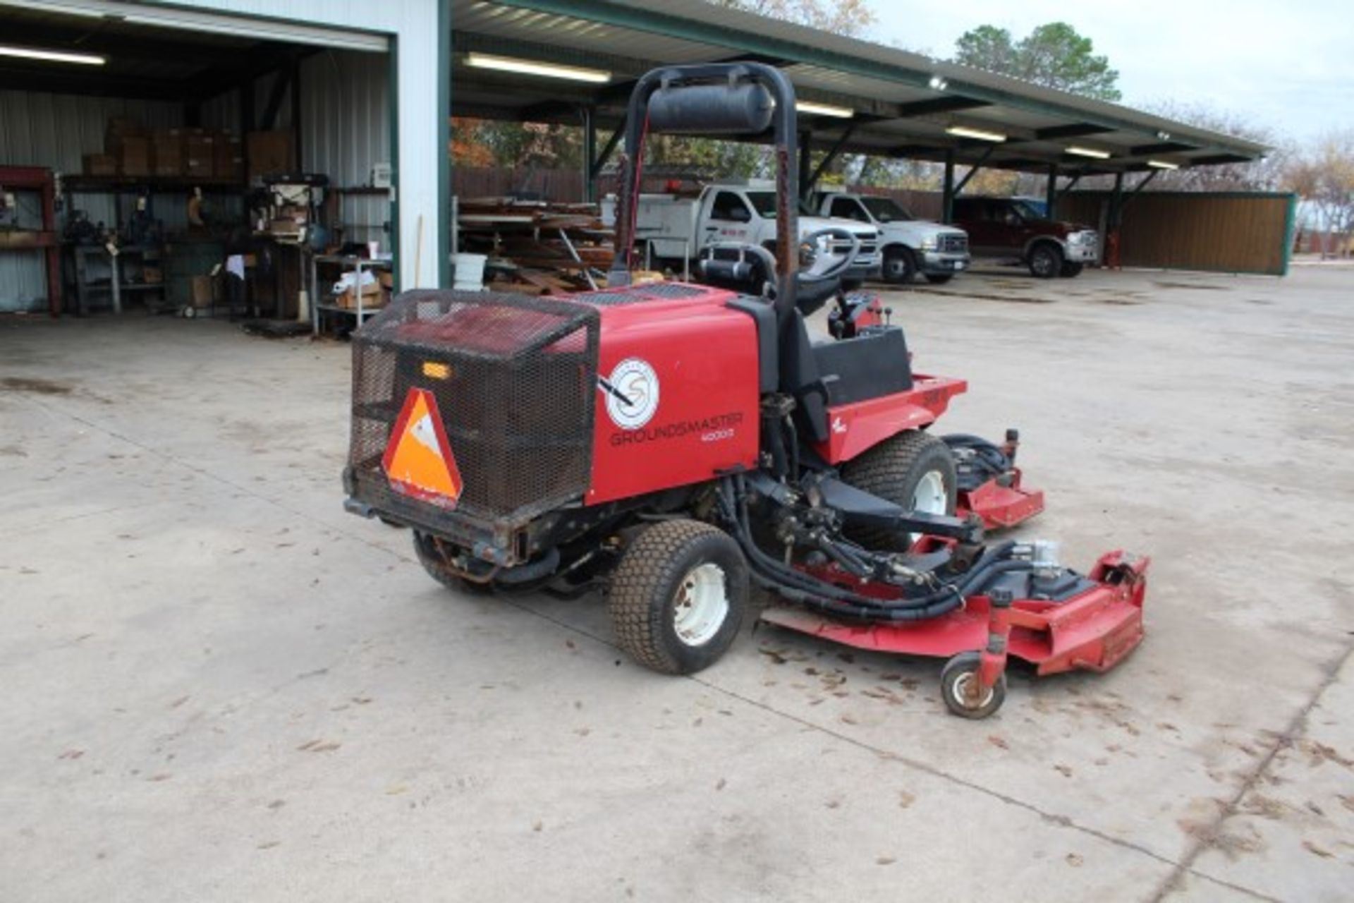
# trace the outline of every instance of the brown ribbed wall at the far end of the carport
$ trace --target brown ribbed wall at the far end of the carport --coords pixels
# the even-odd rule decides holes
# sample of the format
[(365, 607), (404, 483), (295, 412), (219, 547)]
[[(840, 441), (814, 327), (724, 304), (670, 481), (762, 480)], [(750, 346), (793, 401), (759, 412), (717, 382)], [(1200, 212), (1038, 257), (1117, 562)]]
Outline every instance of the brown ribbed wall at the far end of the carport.
[[(1120, 263), (1282, 276), (1293, 195), (1144, 191), (1124, 207)], [(1109, 192), (1074, 191), (1057, 218), (1101, 227)]]

